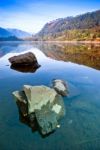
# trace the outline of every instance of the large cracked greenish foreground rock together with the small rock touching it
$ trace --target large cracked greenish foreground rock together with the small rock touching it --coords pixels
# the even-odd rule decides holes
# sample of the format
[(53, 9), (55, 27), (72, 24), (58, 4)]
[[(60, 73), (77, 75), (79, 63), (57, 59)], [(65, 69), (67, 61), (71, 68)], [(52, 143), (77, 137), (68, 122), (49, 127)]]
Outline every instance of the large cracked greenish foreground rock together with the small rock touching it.
[(59, 127), (59, 120), (65, 115), (61, 95), (67, 93), (68, 89), (64, 81), (53, 80), (52, 88), (44, 85), (24, 85), (22, 91), (15, 91), (13, 95), (22, 116), (29, 119), (30, 126), (32, 127), (36, 120), (40, 133), (47, 135)]

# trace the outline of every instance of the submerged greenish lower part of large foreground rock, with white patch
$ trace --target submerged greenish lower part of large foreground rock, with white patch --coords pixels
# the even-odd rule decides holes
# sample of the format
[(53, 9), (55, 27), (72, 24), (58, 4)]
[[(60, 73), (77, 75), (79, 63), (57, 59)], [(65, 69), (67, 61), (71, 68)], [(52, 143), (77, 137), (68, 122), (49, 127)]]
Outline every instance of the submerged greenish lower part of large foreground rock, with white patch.
[(59, 120), (65, 115), (63, 99), (56, 95), (53, 102), (48, 102), (40, 110), (35, 110), (36, 119), (42, 134), (54, 131), (59, 124)]

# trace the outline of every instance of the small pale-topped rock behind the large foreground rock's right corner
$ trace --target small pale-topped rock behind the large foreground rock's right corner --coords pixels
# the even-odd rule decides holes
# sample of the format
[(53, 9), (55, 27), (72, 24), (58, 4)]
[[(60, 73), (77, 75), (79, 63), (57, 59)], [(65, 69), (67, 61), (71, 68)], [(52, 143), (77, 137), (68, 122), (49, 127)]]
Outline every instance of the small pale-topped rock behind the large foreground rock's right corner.
[(53, 88), (56, 90), (56, 92), (62, 96), (67, 96), (69, 91), (68, 91), (68, 86), (65, 81), (60, 80), (60, 79), (55, 79), (52, 82)]

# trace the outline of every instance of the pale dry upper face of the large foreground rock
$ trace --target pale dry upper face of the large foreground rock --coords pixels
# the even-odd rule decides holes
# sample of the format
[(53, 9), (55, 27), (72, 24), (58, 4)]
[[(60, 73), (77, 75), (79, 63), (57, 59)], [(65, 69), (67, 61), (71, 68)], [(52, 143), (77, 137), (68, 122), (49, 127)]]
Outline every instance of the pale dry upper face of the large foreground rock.
[(29, 86), (24, 85), (24, 91), (28, 99), (29, 114), (36, 109), (40, 110), (48, 102), (52, 103), (57, 95), (54, 89), (46, 86)]

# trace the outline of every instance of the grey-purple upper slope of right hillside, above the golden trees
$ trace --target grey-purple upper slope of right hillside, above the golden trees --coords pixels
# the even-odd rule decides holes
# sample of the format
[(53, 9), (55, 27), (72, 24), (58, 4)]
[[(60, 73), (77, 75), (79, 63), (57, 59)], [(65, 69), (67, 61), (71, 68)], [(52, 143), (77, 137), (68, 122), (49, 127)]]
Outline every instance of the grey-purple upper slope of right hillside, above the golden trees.
[(100, 27), (100, 10), (78, 15), (76, 17), (60, 18), (51, 21), (37, 34), (38, 37), (58, 36), (65, 31), (83, 30)]

